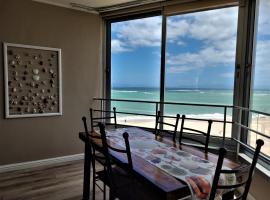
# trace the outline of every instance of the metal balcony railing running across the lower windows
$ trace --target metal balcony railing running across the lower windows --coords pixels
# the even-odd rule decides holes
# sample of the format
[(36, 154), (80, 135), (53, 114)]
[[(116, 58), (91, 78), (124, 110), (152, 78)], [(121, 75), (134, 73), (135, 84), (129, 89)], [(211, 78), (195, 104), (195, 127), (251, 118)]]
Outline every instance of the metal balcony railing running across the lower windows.
[[(262, 150), (261, 156), (264, 159), (270, 160), (270, 149), (268, 147), (270, 147), (270, 134), (269, 133), (263, 133), (259, 130), (255, 130), (253, 127), (250, 127), (248, 125), (242, 124), (242, 117), (245, 116), (251, 116), (252, 114), (258, 114), (258, 115), (263, 115), (266, 118), (269, 118), (267, 120), (269, 120), (269, 130), (270, 130), (270, 114), (269, 113), (264, 113), (264, 112), (260, 112), (260, 111), (256, 111), (256, 110), (252, 110), (252, 109), (248, 109), (248, 108), (243, 108), (243, 107), (239, 107), (239, 106), (233, 106), (233, 105), (222, 105), (222, 104), (204, 104), (204, 103), (182, 103), (182, 102), (160, 102), (160, 101), (147, 101), (147, 100), (130, 100), (130, 99), (105, 99), (105, 98), (93, 98), (93, 100), (95, 102), (99, 102), (99, 106), (100, 109), (95, 109), (95, 111), (104, 111), (104, 110), (108, 110), (111, 107), (111, 104), (113, 104), (114, 102), (123, 102), (123, 103), (137, 103), (137, 104), (149, 104), (152, 107), (154, 107), (154, 111), (153, 113), (142, 113), (142, 112), (125, 112), (125, 111), (121, 111), (121, 108), (117, 108), (117, 114), (121, 114), (121, 115), (135, 115), (135, 116), (147, 116), (147, 117), (152, 117), (154, 118), (157, 114), (157, 112), (161, 109), (164, 108), (164, 106), (170, 105), (170, 106), (192, 106), (192, 107), (207, 107), (207, 108), (219, 108), (223, 111), (222, 115), (223, 118), (221, 119), (213, 119), (211, 117), (209, 118), (198, 118), (198, 117), (186, 117), (187, 120), (196, 120), (196, 121), (208, 121), (209, 119), (211, 119), (213, 121), (213, 123), (221, 123), (222, 124), (222, 135), (221, 136), (217, 136), (215, 134), (214, 137), (219, 137), (221, 138), (223, 141), (227, 138), (227, 139), (231, 139), (233, 141), (236, 142), (237, 144), (237, 149), (239, 151), (240, 146), (243, 146), (251, 151), (254, 151), (254, 145), (252, 143), (249, 144), (249, 141), (244, 142), (241, 139), (241, 134), (250, 134), (251, 135), (251, 139), (250, 141), (252, 141), (252, 138), (254, 138), (256, 136), (260, 136), (263, 138), (263, 140), (265, 141), (265, 145), (264, 147), (265, 150)], [(228, 110), (231, 110), (231, 119), (228, 119)], [(181, 110), (179, 110), (181, 111)], [(112, 111), (109, 111), (112, 112)], [(164, 118), (168, 118), (168, 119), (173, 119), (175, 118), (175, 116), (172, 115), (164, 115), (164, 110), (161, 109), (161, 115)], [(176, 112), (178, 113), (178, 112)], [(166, 113), (165, 113), (166, 114)], [(183, 115), (185, 113), (181, 113), (179, 112), (179, 114)], [(181, 119), (181, 117), (180, 117)], [(230, 132), (234, 132), (234, 134), (230, 134), (229, 137), (228, 134), (226, 135), (226, 131), (227, 131), (227, 127), (228, 125), (234, 126)], [(149, 128), (149, 127), (145, 127), (145, 128)], [(162, 127), (161, 127), (162, 128)], [(268, 130), (268, 129), (266, 129)], [(227, 131), (228, 132), (228, 131)], [(254, 140), (254, 139), (253, 139)]]

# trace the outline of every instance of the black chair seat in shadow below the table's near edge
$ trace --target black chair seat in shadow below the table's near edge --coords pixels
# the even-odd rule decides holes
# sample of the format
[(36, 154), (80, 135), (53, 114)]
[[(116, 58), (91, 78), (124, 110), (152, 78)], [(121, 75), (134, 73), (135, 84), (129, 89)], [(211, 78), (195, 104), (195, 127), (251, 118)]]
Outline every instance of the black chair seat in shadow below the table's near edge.
[[(139, 178), (134, 174), (128, 173), (126, 170), (115, 166), (112, 168), (112, 175), (115, 182), (114, 188), (116, 190), (117, 198), (120, 200), (161, 200), (160, 191), (154, 188), (149, 182), (143, 178)], [(109, 184), (106, 171), (97, 172), (98, 179)], [(110, 187), (110, 186), (109, 186)]]

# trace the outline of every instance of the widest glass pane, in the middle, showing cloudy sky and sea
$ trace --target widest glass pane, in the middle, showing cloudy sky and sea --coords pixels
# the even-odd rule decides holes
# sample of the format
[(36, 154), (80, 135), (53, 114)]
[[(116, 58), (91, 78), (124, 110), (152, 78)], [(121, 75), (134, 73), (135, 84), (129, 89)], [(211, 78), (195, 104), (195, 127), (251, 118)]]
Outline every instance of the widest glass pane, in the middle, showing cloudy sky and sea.
[[(166, 101), (233, 104), (238, 7), (169, 16), (166, 41)], [(165, 106), (167, 115), (223, 120), (224, 109)], [(227, 120), (232, 119), (231, 110)], [(194, 126), (194, 121), (191, 123)], [(205, 129), (204, 122), (196, 126)], [(212, 135), (222, 136), (223, 123)], [(226, 136), (231, 136), (227, 124)]]

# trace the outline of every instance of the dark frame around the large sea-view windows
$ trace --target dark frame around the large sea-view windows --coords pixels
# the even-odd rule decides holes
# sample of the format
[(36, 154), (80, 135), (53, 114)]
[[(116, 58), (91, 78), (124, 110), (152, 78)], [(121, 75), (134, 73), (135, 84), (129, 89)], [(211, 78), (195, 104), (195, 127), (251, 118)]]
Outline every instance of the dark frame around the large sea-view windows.
[[(256, 29), (258, 26), (258, 7), (259, 0), (239, 0), (238, 4), (218, 5), (209, 8), (194, 8), (193, 10), (181, 11), (174, 14), (166, 14), (163, 9), (156, 9), (151, 12), (143, 12), (140, 14), (131, 14), (127, 16), (116, 17), (105, 20), (105, 79), (104, 79), (104, 95), (106, 99), (111, 98), (111, 24), (114, 22), (127, 21), (132, 19), (140, 19), (145, 17), (162, 16), (162, 35), (161, 35), (161, 66), (160, 66), (160, 102), (165, 99), (165, 76), (166, 76), (166, 34), (167, 34), (167, 17), (179, 14), (194, 13), (200, 11), (222, 9), (226, 7), (238, 7), (238, 25), (236, 36), (236, 55), (235, 55), (235, 77), (233, 88), (233, 106), (250, 108), (252, 98), (252, 86), (254, 75), (254, 58), (256, 56)], [(185, 4), (185, 3), (183, 3)], [(245, 85), (245, 90), (241, 86)], [(107, 102), (106, 109), (110, 110), (110, 102)], [(161, 115), (164, 115), (164, 106), (160, 107)], [(233, 109), (232, 120), (239, 122), (245, 126), (249, 126), (250, 114), (245, 113), (239, 117), (239, 110)], [(252, 133), (251, 133), (252, 134)], [(237, 125), (232, 126), (232, 138), (236, 138), (247, 144), (248, 132)], [(252, 150), (248, 150), (239, 143), (236, 144), (237, 153), (251, 155)], [(270, 169), (270, 155), (259, 156), (259, 162), (263, 166)]]

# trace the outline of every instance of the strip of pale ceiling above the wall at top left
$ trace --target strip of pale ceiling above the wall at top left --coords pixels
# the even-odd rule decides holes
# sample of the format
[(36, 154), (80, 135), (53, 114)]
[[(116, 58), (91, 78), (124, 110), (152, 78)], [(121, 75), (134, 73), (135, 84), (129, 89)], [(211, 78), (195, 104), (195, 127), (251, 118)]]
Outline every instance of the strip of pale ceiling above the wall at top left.
[(51, 4), (86, 12), (98, 13), (106, 8), (113, 9), (119, 6), (131, 6), (142, 3), (157, 2), (160, 0), (33, 0), (40, 3)]

